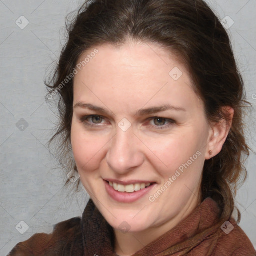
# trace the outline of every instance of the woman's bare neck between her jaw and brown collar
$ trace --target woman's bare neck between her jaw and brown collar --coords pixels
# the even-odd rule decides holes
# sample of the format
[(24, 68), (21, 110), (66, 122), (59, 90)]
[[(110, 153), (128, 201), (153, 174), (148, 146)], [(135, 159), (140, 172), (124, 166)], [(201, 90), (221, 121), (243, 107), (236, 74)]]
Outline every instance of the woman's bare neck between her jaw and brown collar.
[(169, 219), (161, 225), (147, 228), (138, 232), (121, 232), (114, 229), (115, 252), (119, 256), (131, 256), (135, 252), (159, 238), (164, 233), (175, 227), (181, 220), (187, 217), (200, 202), (196, 196), (188, 201), (186, 206), (175, 217)]

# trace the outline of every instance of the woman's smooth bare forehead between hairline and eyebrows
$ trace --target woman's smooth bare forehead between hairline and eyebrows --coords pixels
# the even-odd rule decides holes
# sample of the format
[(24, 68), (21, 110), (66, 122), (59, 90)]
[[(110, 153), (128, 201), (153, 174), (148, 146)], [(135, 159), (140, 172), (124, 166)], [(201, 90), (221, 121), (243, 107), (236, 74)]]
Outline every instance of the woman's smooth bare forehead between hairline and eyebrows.
[[(95, 48), (97, 53), (91, 54)], [(79, 58), (78, 63), (87, 61), (74, 77), (74, 102), (107, 102), (126, 109), (158, 103), (201, 106), (186, 68), (166, 49), (131, 41), (95, 48)]]

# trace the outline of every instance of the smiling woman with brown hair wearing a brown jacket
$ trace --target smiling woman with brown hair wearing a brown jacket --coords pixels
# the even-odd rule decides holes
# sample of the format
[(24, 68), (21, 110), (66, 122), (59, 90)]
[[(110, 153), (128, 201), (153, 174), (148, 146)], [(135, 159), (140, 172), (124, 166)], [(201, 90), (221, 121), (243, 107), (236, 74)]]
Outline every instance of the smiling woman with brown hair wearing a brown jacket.
[(47, 86), (91, 199), (9, 255), (256, 255), (232, 217), (243, 81), (202, 0), (84, 3)]

